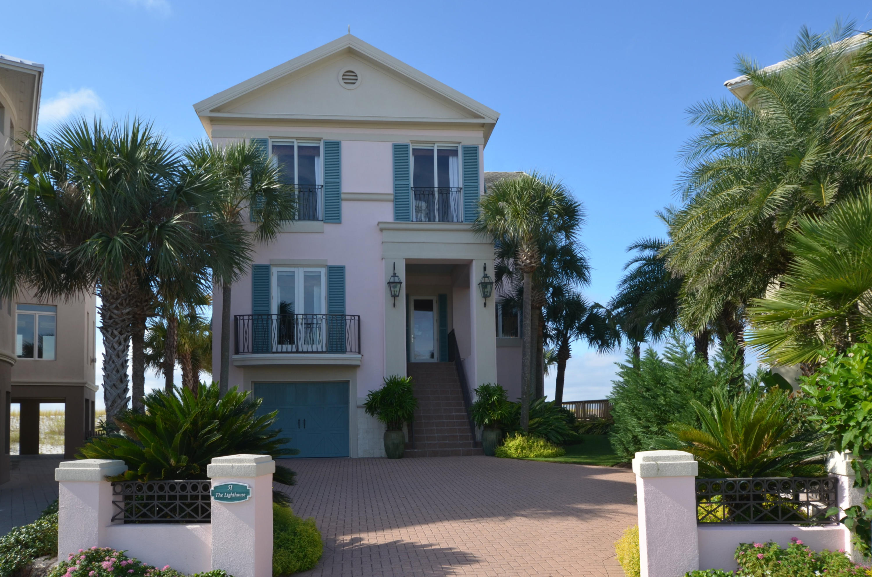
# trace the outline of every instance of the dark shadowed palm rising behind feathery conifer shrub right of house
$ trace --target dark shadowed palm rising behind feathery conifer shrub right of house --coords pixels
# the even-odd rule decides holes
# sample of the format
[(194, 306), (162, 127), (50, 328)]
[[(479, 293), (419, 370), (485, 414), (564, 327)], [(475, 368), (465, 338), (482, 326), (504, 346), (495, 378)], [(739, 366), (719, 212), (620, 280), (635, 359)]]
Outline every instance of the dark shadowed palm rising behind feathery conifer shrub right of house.
[[(666, 243), (658, 239), (642, 239), (627, 248), (635, 251), (623, 269), (628, 271), (617, 284), (617, 295), (608, 309), (620, 335), (633, 348), (638, 363), (641, 343), (657, 343), (678, 326), (678, 302), (681, 277), (672, 275), (661, 254)], [(705, 346), (697, 344), (698, 356), (708, 358), (708, 336)]]

